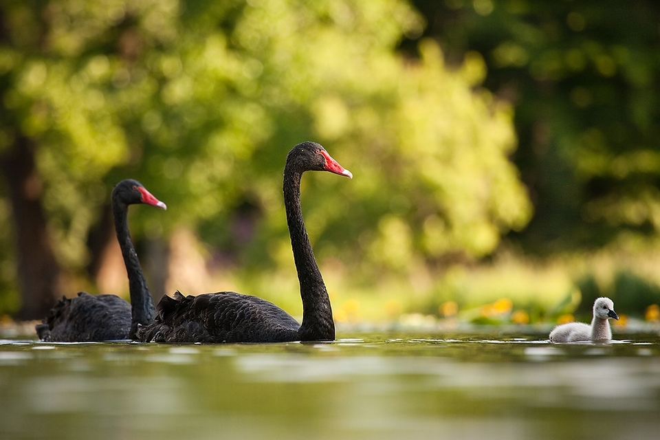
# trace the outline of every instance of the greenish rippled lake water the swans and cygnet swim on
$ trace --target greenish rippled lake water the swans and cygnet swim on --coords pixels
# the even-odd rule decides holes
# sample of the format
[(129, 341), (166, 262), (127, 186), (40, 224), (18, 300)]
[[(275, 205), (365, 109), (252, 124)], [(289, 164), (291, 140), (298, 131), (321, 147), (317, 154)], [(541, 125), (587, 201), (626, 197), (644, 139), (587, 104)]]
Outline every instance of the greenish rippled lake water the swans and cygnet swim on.
[(660, 339), (0, 340), (0, 439), (657, 439)]

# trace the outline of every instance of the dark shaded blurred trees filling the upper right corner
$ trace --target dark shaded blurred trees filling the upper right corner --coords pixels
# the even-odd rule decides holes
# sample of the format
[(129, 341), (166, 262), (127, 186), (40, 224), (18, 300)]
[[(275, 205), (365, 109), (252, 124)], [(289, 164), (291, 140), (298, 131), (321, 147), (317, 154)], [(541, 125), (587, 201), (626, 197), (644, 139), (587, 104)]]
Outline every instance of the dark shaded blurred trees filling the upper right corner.
[[(450, 63), (476, 51), (516, 110), (530, 250), (660, 231), (660, 3), (413, 0)], [(415, 39), (404, 43), (415, 52)], [(472, 56), (472, 55), (470, 55)]]

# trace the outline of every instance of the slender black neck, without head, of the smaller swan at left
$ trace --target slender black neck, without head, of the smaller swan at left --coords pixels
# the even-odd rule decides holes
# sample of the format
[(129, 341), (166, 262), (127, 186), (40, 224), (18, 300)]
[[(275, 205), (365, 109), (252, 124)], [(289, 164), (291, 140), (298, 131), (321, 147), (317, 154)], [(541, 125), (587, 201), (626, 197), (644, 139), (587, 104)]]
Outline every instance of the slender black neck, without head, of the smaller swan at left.
[(117, 232), (117, 241), (122, 249), (124, 265), (126, 265), (126, 274), (129, 276), (129, 293), (131, 294), (131, 334), (129, 338), (135, 339), (137, 324), (147, 325), (153, 320), (153, 302), (151, 294), (146, 286), (146, 280), (142, 274), (140, 261), (137, 259), (135, 246), (131, 241), (129, 234), (128, 206), (122, 202), (112, 203), (112, 213), (115, 219), (115, 231)]

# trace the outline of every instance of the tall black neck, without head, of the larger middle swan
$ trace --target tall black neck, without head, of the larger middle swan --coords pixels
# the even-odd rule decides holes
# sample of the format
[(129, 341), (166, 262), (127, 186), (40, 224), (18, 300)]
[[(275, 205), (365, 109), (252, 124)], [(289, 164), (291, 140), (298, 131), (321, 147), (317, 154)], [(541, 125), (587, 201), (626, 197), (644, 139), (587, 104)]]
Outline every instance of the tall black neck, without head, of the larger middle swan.
[(291, 247), (303, 298), (303, 324), (300, 340), (334, 340), (335, 324), (325, 283), (321, 276), (300, 209), (300, 177), (302, 171), (292, 169), (288, 163), (284, 170), (284, 206), (291, 236)]

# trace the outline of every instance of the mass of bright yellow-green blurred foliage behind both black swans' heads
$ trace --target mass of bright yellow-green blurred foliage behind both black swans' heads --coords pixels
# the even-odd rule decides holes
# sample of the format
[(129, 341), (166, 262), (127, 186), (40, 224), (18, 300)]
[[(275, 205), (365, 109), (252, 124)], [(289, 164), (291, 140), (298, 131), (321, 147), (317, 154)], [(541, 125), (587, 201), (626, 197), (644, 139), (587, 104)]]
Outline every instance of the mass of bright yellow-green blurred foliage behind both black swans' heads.
[[(431, 41), (419, 59), (401, 57), (404, 36), (423, 30), (404, 1), (0, 8), (13, 35), (0, 47), (0, 106), (13, 118), (3, 133), (34, 142), (41, 206), (69, 272), (94, 267), (91, 252), (112, 235), (88, 239), (89, 230), (111, 186), (131, 176), (170, 208), (136, 211), (137, 236), (185, 225), (248, 272), (285, 267), (294, 278), (281, 175), (303, 140), (355, 174), (303, 191), (316, 254), (341, 253), (371, 279), (447, 254), (486, 255), (531, 214), (507, 159), (513, 114), (481, 89), (483, 58), (450, 72)], [(40, 43), (25, 47), (37, 28)]]

